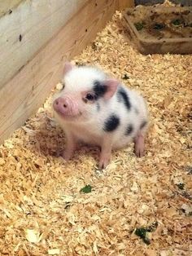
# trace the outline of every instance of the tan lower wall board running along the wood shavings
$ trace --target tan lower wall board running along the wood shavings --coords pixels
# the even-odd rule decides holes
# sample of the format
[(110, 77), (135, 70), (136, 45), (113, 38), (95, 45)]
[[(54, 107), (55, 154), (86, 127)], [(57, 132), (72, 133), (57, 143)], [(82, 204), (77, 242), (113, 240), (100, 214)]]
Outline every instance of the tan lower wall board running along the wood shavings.
[[(130, 1), (126, 1), (129, 5)], [(19, 73), (0, 89), (0, 143), (49, 95), (59, 82), (64, 60), (70, 60), (91, 42), (120, 7), (117, 0), (88, 1)]]

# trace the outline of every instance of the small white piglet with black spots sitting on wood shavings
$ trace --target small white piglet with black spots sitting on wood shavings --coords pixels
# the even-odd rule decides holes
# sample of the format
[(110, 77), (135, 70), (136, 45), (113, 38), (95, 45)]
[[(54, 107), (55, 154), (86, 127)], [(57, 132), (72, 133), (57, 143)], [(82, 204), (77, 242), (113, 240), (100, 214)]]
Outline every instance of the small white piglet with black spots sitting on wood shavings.
[(70, 63), (64, 65), (62, 84), (53, 109), (67, 139), (65, 160), (72, 157), (78, 142), (101, 148), (101, 169), (108, 165), (112, 149), (131, 141), (136, 156), (143, 156), (148, 113), (141, 95), (98, 68)]

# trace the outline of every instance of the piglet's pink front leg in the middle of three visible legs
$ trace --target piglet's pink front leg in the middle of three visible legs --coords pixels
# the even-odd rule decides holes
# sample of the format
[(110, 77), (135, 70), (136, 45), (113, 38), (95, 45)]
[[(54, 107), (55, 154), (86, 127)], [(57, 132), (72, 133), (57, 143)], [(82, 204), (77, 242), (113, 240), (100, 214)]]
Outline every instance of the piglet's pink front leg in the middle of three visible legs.
[(111, 157), (111, 148), (111, 136), (106, 136), (103, 139), (103, 143), (101, 146), (101, 154), (98, 164), (99, 169), (104, 169), (109, 164)]

